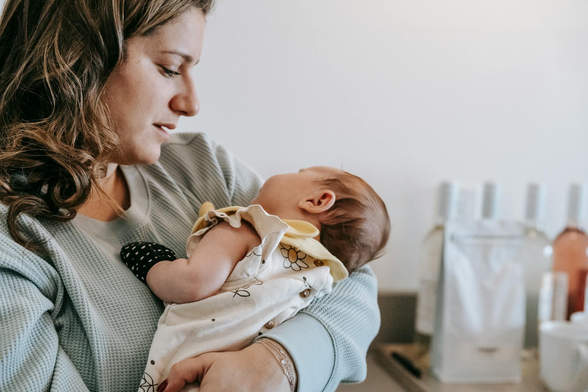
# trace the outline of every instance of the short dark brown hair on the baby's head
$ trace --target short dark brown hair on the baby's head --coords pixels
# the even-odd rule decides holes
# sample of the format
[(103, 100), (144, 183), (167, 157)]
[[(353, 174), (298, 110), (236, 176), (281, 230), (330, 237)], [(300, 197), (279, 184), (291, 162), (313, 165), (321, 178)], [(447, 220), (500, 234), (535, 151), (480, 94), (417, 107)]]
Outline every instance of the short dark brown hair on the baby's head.
[(381, 257), (390, 236), (390, 217), (375, 190), (347, 172), (318, 183), (335, 192), (335, 204), (319, 217), (320, 243), (349, 273)]

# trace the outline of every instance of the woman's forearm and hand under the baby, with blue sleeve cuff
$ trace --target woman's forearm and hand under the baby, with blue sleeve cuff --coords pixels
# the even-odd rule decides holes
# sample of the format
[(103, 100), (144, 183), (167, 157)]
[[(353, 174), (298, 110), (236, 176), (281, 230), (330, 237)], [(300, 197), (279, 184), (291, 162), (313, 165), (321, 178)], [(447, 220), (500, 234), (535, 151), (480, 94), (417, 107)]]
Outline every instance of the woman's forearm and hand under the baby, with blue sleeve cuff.
[[(263, 334), (290, 354), (288, 360), (298, 370), (299, 392), (330, 392), (340, 381), (365, 378), (366, 351), (380, 325), (375, 291), (372, 271), (362, 267), (332, 293)], [(165, 392), (177, 392), (193, 381), (202, 383), (201, 392), (290, 390), (282, 367), (261, 344), (180, 361), (168, 374)]]

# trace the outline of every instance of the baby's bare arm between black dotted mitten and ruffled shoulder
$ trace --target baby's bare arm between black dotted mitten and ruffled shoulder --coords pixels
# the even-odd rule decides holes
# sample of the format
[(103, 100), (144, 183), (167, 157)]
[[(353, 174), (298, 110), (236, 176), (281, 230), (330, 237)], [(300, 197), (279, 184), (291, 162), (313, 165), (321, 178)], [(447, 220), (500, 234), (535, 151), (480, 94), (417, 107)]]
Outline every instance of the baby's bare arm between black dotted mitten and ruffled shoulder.
[(168, 303), (205, 299), (218, 293), (235, 265), (259, 243), (248, 222), (242, 221), (240, 227), (221, 222), (202, 237), (189, 260), (156, 263), (145, 280), (152, 292)]

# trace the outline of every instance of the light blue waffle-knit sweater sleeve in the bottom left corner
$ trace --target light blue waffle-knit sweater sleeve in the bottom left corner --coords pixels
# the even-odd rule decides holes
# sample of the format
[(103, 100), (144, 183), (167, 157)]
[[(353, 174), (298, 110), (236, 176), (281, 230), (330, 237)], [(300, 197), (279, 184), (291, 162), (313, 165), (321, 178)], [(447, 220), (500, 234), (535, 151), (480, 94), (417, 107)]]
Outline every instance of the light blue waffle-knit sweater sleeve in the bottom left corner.
[(59, 346), (54, 304), (23, 274), (0, 263), (0, 390), (88, 391)]

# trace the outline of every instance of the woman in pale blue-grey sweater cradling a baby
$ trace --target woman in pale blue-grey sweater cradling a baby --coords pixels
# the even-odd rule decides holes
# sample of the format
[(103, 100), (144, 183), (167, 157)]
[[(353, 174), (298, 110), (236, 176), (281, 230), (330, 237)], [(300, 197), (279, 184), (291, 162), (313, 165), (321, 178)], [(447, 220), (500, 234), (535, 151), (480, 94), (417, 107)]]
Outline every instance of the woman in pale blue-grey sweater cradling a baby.
[[(0, 390), (289, 391), (262, 344), (142, 378), (162, 303), (119, 259), (183, 250), (199, 205), (247, 205), (259, 177), (206, 136), (191, 69), (211, 0), (8, 0), (0, 20)], [(181, 253), (178, 253), (181, 254)], [(379, 327), (363, 267), (265, 334), (299, 391), (365, 377)], [(289, 355), (288, 355), (289, 354)]]

